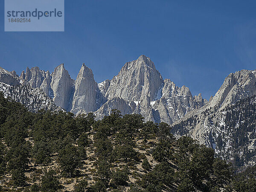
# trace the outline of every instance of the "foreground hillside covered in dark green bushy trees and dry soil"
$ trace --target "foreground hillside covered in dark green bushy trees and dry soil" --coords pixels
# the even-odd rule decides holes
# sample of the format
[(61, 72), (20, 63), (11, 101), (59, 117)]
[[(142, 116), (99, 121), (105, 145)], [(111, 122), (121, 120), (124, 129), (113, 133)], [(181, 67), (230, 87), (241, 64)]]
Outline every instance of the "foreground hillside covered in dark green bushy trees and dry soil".
[[(232, 123), (232, 122), (230, 122)], [(76, 192), (256, 189), (255, 167), (233, 165), (170, 126), (138, 114), (31, 113), (0, 94), (0, 190)]]

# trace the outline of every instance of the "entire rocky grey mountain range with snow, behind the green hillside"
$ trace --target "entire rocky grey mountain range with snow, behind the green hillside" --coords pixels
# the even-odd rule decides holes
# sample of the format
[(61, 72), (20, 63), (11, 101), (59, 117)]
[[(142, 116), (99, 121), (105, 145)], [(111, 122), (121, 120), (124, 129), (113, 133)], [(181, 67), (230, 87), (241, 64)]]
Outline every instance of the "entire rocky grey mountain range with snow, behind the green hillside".
[(256, 110), (251, 107), (256, 107), (256, 70), (230, 73), (209, 102), (201, 93), (192, 96), (188, 87), (163, 79), (145, 55), (101, 83), (85, 64), (76, 80), (61, 64), (52, 73), (32, 67), (20, 76), (0, 68), (0, 82), (6, 97), (31, 111), (59, 107), (75, 114), (93, 112), (96, 119), (112, 109), (138, 113), (145, 121), (167, 122), (175, 136), (191, 136), (238, 167), (256, 164)]

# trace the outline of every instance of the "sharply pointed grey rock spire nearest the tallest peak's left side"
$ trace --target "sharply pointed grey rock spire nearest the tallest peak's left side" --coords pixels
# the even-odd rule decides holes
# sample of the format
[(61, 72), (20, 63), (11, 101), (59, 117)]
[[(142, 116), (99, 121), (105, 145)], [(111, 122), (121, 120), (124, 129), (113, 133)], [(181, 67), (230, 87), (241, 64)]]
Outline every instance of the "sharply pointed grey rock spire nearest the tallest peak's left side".
[(76, 78), (71, 112), (77, 113), (79, 111), (96, 111), (97, 93), (100, 93), (100, 91), (98, 84), (93, 78), (92, 70), (86, 67), (85, 64), (82, 64)]

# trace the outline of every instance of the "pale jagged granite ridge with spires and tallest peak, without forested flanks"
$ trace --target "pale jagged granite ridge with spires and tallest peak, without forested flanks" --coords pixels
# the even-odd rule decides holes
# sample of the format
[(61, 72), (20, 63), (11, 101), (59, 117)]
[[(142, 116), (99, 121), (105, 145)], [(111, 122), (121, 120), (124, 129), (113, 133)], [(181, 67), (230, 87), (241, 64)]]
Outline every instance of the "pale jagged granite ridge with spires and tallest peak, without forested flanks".
[(113, 79), (101, 83), (96, 83), (84, 63), (76, 80), (60, 64), (51, 74), (39, 67), (27, 67), (20, 77), (1, 68), (0, 82), (39, 88), (58, 107), (75, 114), (94, 112), (96, 119), (117, 108), (123, 115), (138, 113), (146, 121), (171, 124), (207, 103), (201, 94), (193, 97), (188, 87), (177, 87), (170, 79), (163, 79), (145, 55), (125, 63)]

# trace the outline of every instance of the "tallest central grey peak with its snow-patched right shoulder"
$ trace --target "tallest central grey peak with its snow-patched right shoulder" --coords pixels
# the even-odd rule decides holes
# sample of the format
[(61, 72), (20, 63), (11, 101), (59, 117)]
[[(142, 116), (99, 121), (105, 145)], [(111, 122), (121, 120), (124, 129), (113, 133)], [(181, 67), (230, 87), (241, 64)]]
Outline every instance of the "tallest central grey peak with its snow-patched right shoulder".
[(107, 102), (95, 112), (97, 119), (111, 113), (110, 103), (121, 101), (116, 98), (123, 99), (122, 103), (125, 103), (117, 108), (122, 114), (131, 111), (142, 114), (146, 121), (169, 124), (207, 103), (201, 94), (193, 97), (188, 87), (180, 88), (170, 79), (163, 80), (154, 63), (145, 55), (126, 63), (117, 76), (103, 81), (99, 88)]

